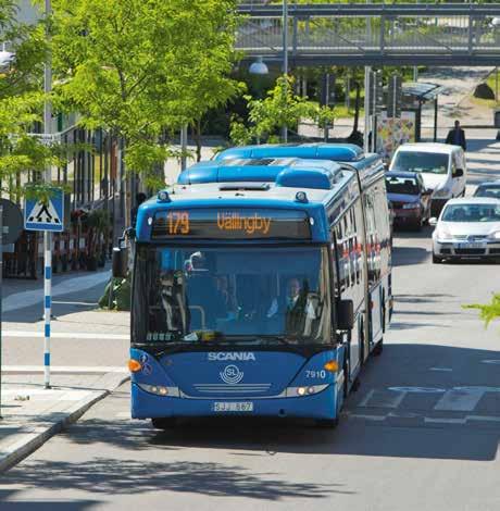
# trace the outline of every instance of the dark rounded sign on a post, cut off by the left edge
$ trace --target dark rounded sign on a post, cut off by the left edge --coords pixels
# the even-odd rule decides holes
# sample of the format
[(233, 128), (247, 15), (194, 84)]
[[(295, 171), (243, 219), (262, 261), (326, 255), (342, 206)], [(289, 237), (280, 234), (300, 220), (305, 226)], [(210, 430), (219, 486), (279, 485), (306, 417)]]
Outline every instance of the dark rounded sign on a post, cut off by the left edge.
[(3, 247), (13, 244), (23, 229), (20, 208), (7, 199), (0, 199), (0, 419), (2, 419), (2, 286)]

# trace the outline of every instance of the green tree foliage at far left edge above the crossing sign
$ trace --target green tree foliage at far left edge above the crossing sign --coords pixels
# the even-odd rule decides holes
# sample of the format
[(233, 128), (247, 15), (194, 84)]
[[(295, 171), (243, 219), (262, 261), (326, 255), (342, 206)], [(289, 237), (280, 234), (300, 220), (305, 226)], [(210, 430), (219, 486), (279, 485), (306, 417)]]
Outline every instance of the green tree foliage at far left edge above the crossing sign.
[[(42, 24), (16, 21), (14, 1), (0, 0), (1, 42), (15, 55), (0, 70), (0, 183), (1, 191), (20, 200), (28, 171), (41, 173), (60, 162), (61, 150), (30, 135), (42, 120), (42, 68), (47, 47)], [(43, 187), (35, 188), (45, 192)]]

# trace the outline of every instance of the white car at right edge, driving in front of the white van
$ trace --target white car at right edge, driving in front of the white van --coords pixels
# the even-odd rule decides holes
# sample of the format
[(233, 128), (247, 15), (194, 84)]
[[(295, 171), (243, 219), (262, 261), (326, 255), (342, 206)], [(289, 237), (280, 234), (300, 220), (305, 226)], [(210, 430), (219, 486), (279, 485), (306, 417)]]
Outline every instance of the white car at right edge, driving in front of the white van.
[(439, 220), (430, 219), (433, 263), (445, 259), (492, 259), (500, 262), (500, 200), (452, 199)]

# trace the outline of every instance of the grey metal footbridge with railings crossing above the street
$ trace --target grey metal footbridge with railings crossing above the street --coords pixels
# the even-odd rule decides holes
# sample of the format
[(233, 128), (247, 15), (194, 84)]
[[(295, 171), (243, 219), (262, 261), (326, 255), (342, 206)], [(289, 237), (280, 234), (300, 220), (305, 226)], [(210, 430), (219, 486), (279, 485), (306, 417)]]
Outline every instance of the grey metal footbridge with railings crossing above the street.
[[(289, 3), (292, 65), (500, 65), (500, 3)], [(279, 64), (282, 4), (238, 9), (243, 61)]]

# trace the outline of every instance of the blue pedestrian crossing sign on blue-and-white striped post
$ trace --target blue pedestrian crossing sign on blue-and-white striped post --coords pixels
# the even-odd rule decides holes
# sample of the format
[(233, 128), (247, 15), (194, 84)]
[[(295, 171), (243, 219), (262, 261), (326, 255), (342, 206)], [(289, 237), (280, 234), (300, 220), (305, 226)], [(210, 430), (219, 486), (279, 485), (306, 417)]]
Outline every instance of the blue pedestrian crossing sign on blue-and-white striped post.
[(26, 230), (43, 232), (43, 378), (45, 387), (50, 388), (50, 319), (52, 312), (52, 246), (51, 233), (64, 230), (64, 194), (61, 188), (52, 188), (47, 201), (26, 200), (24, 209)]

